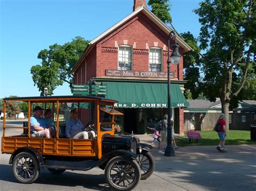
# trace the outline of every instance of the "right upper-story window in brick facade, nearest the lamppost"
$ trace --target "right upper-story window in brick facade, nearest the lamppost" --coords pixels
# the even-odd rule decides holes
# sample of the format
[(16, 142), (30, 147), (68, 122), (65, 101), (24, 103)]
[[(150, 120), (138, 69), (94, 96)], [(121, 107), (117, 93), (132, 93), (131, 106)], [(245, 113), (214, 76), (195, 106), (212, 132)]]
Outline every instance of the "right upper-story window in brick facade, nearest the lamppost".
[(150, 48), (149, 70), (159, 72), (162, 68), (162, 51), (159, 48)]

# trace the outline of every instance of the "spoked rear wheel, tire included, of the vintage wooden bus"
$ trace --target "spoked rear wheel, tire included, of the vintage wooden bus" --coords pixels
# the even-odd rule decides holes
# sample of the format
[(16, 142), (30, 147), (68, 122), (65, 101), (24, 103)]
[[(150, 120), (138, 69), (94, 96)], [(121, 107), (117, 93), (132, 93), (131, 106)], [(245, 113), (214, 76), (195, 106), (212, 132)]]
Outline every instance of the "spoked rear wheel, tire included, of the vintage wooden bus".
[(39, 165), (36, 157), (28, 152), (16, 155), (12, 162), (12, 172), (21, 183), (32, 183), (39, 176)]

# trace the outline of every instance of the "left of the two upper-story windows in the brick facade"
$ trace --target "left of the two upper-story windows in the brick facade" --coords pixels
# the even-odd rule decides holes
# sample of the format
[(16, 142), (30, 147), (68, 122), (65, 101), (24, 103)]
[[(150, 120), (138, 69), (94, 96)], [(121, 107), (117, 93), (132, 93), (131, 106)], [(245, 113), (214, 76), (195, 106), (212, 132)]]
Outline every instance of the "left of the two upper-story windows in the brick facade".
[(132, 48), (128, 46), (119, 46), (118, 50), (118, 69), (132, 69)]

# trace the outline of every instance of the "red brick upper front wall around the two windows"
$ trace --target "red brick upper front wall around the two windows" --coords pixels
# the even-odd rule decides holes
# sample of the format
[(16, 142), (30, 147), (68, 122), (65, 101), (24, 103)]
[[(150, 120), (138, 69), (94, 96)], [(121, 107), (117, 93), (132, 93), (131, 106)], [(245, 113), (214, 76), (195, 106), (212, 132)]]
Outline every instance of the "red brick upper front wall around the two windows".
[[(167, 72), (168, 35), (143, 13), (139, 13), (129, 22), (120, 26), (118, 30), (97, 43), (97, 77), (105, 77), (105, 69), (118, 69), (118, 48), (115, 47), (115, 41), (120, 46), (124, 45), (123, 40), (127, 40), (127, 45), (131, 47), (136, 43), (136, 48), (133, 48), (133, 70), (149, 71), (149, 50), (146, 49), (146, 43), (149, 47), (159, 47), (162, 50), (165, 45), (163, 71)], [(154, 46), (154, 42), (157, 42), (158, 45)], [(171, 41), (171, 44), (173, 44), (173, 41)], [(180, 53), (182, 52), (181, 49)], [(175, 73), (176, 78), (183, 80), (182, 59), (178, 67), (171, 66), (171, 72)]]

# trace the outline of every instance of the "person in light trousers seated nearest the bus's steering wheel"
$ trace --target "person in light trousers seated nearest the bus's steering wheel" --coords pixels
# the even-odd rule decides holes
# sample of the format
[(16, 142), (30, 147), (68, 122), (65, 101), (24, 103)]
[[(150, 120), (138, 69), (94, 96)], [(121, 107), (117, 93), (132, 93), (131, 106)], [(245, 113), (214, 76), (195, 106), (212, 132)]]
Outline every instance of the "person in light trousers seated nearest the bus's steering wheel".
[(82, 122), (78, 119), (78, 112), (72, 109), (69, 112), (69, 121), (66, 122), (65, 134), (67, 138), (72, 139), (93, 139), (95, 138), (94, 131), (84, 131)]

